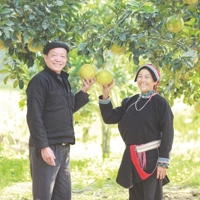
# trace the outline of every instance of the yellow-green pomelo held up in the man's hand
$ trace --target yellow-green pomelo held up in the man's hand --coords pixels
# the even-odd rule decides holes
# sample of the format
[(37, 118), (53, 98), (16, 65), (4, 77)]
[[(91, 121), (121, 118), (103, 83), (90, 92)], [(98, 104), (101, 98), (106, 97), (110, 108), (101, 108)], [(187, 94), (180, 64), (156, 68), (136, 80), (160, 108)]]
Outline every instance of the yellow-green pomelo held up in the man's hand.
[(82, 79), (93, 79), (95, 78), (96, 71), (95, 68), (90, 64), (84, 64), (80, 67), (78, 75)]

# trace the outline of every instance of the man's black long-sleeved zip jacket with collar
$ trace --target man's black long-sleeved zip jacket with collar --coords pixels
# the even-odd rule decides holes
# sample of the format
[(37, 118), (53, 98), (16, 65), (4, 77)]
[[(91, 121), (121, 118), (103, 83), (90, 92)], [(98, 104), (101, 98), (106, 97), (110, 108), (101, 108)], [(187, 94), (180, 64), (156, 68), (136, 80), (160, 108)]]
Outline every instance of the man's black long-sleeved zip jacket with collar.
[(29, 82), (27, 93), (27, 123), (29, 146), (36, 149), (52, 144), (75, 143), (73, 113), (89, 102), (88, 94), (74, 94), (68, 73), (60, 77), (48, 67)]

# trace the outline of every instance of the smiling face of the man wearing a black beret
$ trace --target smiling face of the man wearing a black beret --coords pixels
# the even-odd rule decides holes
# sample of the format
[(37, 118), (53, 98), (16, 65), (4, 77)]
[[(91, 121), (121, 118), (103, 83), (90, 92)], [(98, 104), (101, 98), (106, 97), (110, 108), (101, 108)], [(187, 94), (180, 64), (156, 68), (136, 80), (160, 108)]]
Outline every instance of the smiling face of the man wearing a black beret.
[(60, 74), (67, 63), (67, 51), (64, 48), (51, 49), (48, 55), (44, 55), (44, 60), (47, 67), (56, 72), (56, 74)]

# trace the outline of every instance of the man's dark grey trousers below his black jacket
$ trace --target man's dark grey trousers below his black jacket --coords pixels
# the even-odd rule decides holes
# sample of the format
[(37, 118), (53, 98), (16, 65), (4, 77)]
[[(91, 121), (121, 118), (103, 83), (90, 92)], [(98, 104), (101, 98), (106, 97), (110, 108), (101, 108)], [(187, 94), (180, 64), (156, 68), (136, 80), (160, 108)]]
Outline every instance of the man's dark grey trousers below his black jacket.
[(48, 165), (40, 151), (29, 148), (33, 200), (71, 200), (70, 145), (55, 144), (56, 166)]

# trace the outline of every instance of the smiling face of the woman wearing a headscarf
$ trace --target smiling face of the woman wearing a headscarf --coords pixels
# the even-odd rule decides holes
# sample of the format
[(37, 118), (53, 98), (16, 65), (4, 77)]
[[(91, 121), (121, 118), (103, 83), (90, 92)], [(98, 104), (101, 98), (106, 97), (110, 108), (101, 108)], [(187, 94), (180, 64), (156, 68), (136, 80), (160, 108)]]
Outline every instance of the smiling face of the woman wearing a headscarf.
[(142, 94), (145, 94), (154, 89), (154, 82), (153, 77), (149, 70), (141, 69), (137, 76), (137, 84)]

